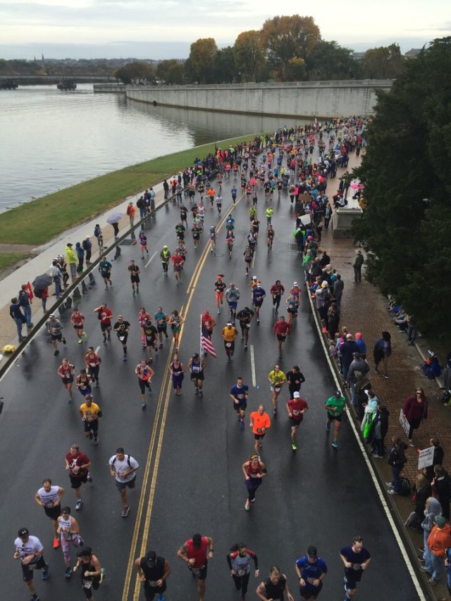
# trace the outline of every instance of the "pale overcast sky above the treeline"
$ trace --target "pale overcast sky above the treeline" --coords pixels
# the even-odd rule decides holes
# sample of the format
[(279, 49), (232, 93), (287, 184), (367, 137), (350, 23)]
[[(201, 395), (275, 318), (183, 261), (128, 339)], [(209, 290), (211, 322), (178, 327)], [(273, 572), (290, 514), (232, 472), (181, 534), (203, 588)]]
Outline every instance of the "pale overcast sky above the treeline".
[(321, 37), (364, 51), (396, 42), (421, 48), (451, 35), (449, 0), (323, 0), (280, 11), (273, 0), (0, 0), (0, 57), (187, 58), (190, 44), (218, 47), (259, 30), (266, 19), (297, 11)]

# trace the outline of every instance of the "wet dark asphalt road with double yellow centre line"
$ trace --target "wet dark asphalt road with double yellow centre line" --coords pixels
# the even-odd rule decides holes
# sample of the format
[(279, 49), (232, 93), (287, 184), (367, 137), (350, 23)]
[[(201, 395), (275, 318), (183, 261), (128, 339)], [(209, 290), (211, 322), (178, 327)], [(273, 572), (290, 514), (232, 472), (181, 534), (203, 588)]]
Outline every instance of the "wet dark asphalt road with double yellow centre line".
[[(223, 196), (228, 206), (230, 197), (226, 190)], [(263, 205), (261, 192), (259, 216), (262, 223)], [(267, 294), (277, 278), (285, 287), (289, 287), (294, 279), (302, 279), (299, 256), (288, 247), (292, 240), (289, 206), (287, 197), (283, 197), (280, 204), (275, 203), (273, 253), (267, 254), (263, 240), (257, 249), (253, 271), (264, 283)], [(251, 512), (244, 509), (246, 489), (240, 466), (253, 450), (252, 433), (250, 428), (241, 431), (237, 426), (228, 390), (236, 377), (242, 375), (251, 390), (249, 408), (253, 410), (260, 402), (268, 408), (271, 406), (266, 378), (278, 354), (275, 337), (271, 334), (273, 316), (269, 294), (262, 309), (261, 325), (257, 328), (253, 324), (249, 339), (254, 348), (257, 386), (252, 385), (251, 349), (245, 352), (241, 340), (237, 340), (233, 363), (226, 364), (222, 341), (215, 332), (218, 359), (208, 359), (204, 398), (193, 395), (188, 378), (183, 395), (173, 395), (167, 377), (170, 349), (166, 344), (154, 362), (156, 376), (152, 401), (146, 411), (140, 407), (133, 368), (142, 356), (137, 327), (137, 311), (142, 304), (151, 313), (159, 304), (166, 312), (182, 309), (187, 322), (180, 358), (185, 365), (190, 354), (199, 347), (201, 311), (208, 308), (214, 313), (217, 273), (224, 273), (227, 283), (234, 280), (240, 288), (239, 306), (248, 304), (249, 280), (245, 278), (242, 260), (249, 223), (245, 199), (236, 206), (234, 215), (236, 242), (231, 260), (226, 253), (223, 229), (218, 235), (216, 257), (208, 252), (202, 255), (203, 247), (194, 250), (191, 237), (187, 236), (189, 254), (182, 286), (175, 286), (171, 274), (164, 278), (158, 255), (144, 268), (148, 259), (141, 261), (136, 246), (123, 247), (121, 258), (113, 263), (113, 288), (109, 292), (104, 291), (99, 277), (95, 276), (96, 285), (79, 305), (87, 317), (87, 342), (94, 347), (100, 345), (103, 359), (101, 388), (94, 390), (94, 399), (104, 413), (98, 447), (82, 439), (78, 403), (68, 405), (66, 390), (56, 375), (58, 359), (63, 356), (80, 368), (87, 346), (87, 343), (76, 343), (69, 323), (70, 311), (62, 316), (68, 345), (60, 356), (54, 357), (47, 334), (39, 333), (1, 382), (0, 394), (5, 397), (6, 407), (0, 419), (1, 476), (5, 483), (4, 494), (0, 497), (3, 522), (0, 561), (4, 566), (2, 588), (6, 591), (2, 598), (6, 601), (25, 599), (27, 595), (21, 583), (20, 568), (12, 559), (12, 543), (20, 526), (30, 528), (48, 549), (46, 557), (51, 565), (51, 578), (47, 583), (42, 583), (39, 578), (37, 585), (41, 599), (53, 601), (64, 597), (66, 601), (72, 601), (82, 598), (77, 578), (70, 583), (64, 581), (61, 550), (51, 549), (49, 520), (33, 501), (42, 478), (51, 477), (54, 483), (66, 488), (64, 502), (74, 507), (64, 469), (64, 455), (74, 441), (80, 442), (81, 449), (92, 460), (94, 483), (85, 486), (85, 505), (75, 516), (86, 543), (92, 545), (106, 567), (108, 577), (95, 595), (96, 599), (125, 601), (138, 598), (135, 574), (130, 574), (130, 558), (146, 548), (154, 548), (173, 567), (166, 599), (197, 599), (195, 583), (185, 565), (175, 557), (180, 544), (196, 531), (211, 535), (215, 540), (207, 599), (237, 598), (225, 556), (230, 545), (245, 540), (259, 556), (261, 575), (266, 576), (269, 567), (278, 564), (296, 591), (295, 598), (299, 598), (295, 560), (309, 545), (316, 545), (329, 567), (321, 598), (340, 600), (344, 591), (338, 551), (350, 544), (355, 534), (364, 537), (365, 546), (373, 556), (359, 587), (362, 598), (369, 601), (418, 598), (347, 421), (342, 428), (338, 452), (330, 446), (323, 402), (335, 385), (305, 295), (294, 333), (285, 345), (281, 365), (284, 371), (293, 364), (301, 366), (307, 379), (302, 394), (309, 402), (310, 410), (300, 428), (297, 453), (291, 450), (290, 428), (283, 406), (278, 418), (273, 420), (262, 457), (268, 467), (268, 476), (257, 493), (257, 502)], [(149, 227), (149, 257), (162, 244), (172, 246), (177, 220), (175, 206), (159, 211), (156, 222)], [(206, 225), (217, 221), (216, 210), (206, 209)], [(139, 297), (132, 297), (126, 271), (131, 257), (142, 267)], [(194, 271), (197, 267), (199, 271)], [(115, 316), (121, 313), (132, 322), (128, 363), (122, 361), (121, 345), (116, 337), (107, 345), (101, 343), (99, 322), (92, 309), (104, 299)], [(220, 330), (226, 321), (224, 309), (218, 316), (216, 330)], [(78, 392), (75, 399), (82, 400)], [(281, 399), (283, 402), (288, 399), (288, 390), (281, 393)], [(106, 467), (118, 445), (140, 461), (139, 485), (130, 495), (132, 509), (127, 519), (121, 519), (121, 504)], [(257, 586), (257, 582), (252, 583), (250, 590), (254, 590), (254, 584)], [(248, 597), (253, 598), (253, 593)]]

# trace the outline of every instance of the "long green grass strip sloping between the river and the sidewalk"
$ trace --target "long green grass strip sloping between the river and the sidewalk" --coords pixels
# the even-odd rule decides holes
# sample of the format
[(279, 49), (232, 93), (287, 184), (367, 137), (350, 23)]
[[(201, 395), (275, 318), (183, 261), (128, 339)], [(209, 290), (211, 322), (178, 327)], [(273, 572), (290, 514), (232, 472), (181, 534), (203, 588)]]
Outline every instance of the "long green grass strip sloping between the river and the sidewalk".
[[(216, 142), (227, 147), (235, 142), (249, 140), (254, 135), (243, 135)], [(47, 194), (32, 202), (0, 214), (0, 243), (44, 244), (65, 230), (89, 221), (119, 204), (123, 199), (180, 171), (199, 156), (204, 158), (214, 151), (214, 142), (175, 152), (101, 175), (59, 192)]]

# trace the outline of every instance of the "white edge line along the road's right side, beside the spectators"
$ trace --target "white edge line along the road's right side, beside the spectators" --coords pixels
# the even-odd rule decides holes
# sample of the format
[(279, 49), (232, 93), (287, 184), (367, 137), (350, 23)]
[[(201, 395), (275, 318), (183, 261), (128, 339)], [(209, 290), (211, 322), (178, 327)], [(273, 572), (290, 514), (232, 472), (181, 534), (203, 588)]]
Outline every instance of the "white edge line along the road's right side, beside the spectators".
[[(307, 286), (307, 284), (306, 284), (306, 286)], [(340, 381), (337, 378), (337, 374), (335, 373), (335, 370), (333, 368), (332, 361), (330, 360), (330, 356), (328, 353), (328, 349), (326, 347), (326, 343), (324, 342), (323, 336), (321, 335), (321, 326), (318, 321), (318, 316), (316, 315), (316, 312), (314, 311), (314, 305), (313, 305), (312, 299), (310, 298), (308, 288), (307, 288), (307, 296), (309, 297), (311, 312), (314, 316), (316, 330), (318, 330), (319, 340), (321, 340), (321, 345), (323, 346), (323, 351), (324, 351), (324, 354), (326, 355), (326, 359), (329, 364), (330, 373), (332, 373), (333, 379), (335, 380), (335, 384), (337, 385), (337, 389), (341, 390), (342, 384), (340, 383)], [(421, 590), (421, 585), (419, 583), (419, 580), (415, 574), (414, 566), (412, 565), (412, 562), (410, 561), (409, 557), (407, 556), (407, 553), (405, 552), (405, 548), (404, 548), (404, 545), (402, 544), (402, 539), (400, 537), (400, 533), (397, 531), (397, 526), (395, 524), (395, 520), (393, 519), (393, 517), (390, 513), (390, 508), (388, 507), (387, 502), (385, 501), (385, 497), (383, 496), (381, 485), (379, 484), (379, 481), (376, 477), (376, 473), (373, 469), (373, 466), (371, 465), (371, 461), (369, 460), (369, 457), (366, 454), (365, 447), (363, 445), (362, 440), (360, 439), (359, 433), (357, 432), (357, 428), (355, 426), (354, 420), (350, 416), (349, 416), (349, 422), (351, 424), (352, 431), (354, 432), (354, 436), (357, 440), (357, 444), (359, 445), (362, 455), (364, 457), (364, 460), (366, 462), (366, 466), (369, 469), (371, 479), (373, 481), (374, 487), (376, 488), (376, 492), (378, 493), (378, 497), (379, 497), (379, 500), (381, 501), (385, 515), (387, 516), (388, 523), (390, 523), (390, 526), (393, 530), (393, 534), (395, 535), (397, 545), (398, 545), (398, 547), (400, 547), (402, 558), (404, 559), (404, 562), (407, 566), (407, 571), (409, 571), (410, 577), (412, 578), (412, 582), (414, 583), (414, 587), (416, 588), (416, 593), (418, 594), (418, 597), (421, 601), (427, 601), (426, 597), (424, 596), (423, 590)]]

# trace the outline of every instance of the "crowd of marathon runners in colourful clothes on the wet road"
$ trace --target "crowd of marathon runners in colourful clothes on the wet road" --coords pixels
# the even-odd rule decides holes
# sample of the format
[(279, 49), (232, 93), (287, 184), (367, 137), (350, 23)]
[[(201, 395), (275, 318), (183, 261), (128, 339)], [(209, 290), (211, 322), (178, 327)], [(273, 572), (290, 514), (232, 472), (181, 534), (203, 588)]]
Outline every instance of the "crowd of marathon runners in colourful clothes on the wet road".
[[(117, 344), (121, 345), (123, 361), (128, 361), (130, 329), (139, 328), (142, 359), (130, 367), (130, 370), (134, 370), (136, 376), (142, 410), (147, 408), (147, 395), (152, 392), (152, 378), (155, 370), (158, 369), (155, 361), (157, 354), (165, 353), (165, 347), (166, 352), (169, 350), (173, 353), (168, 369), (175, 395), (182, 394), (186, 375), (192, 383), (192, 393), (202, 397), (205, 380), (209, 375), (208, 355), (216, 357), (215, 345), (218, 348), (220, 337), (223, 340), (225, 359), (228, 363), (233, 361), (237, 339), (241, 338), (243, 349), (246, 350), (249, 345), (249, 335), (252, 336), (251, 326), (264, 327), (260, 324), (263, 319), (261, 308), (265, 301), (271, 302), (273, 316), (268, 335), (274, 337), (273, 344), (277, 345), (278, 357), (281, 358), (285, 343), (290, 337), (296, 335), (299, 304), (302, 302), (302, 295), (306, 294), (302, 292), (304, 285), (299, 285), (297, 281), (299, 275), (302, 277), (303, 273), (307, 281), (307, 294), (314, 298), (323, 332), (330, 335), (330, 353), (340, 354), (342, 366), (345, 365), (346, 371), (343, 376), (346, 381), (349, 380), (355, 395), (353, 402), (357, 403), (359, 391), (356, 390), (355, 380), (352, 378), (355, 370), (349, 371), (350, 364), (352, 360), (356, 360), (356, 357), (351, 358), (350, 363), (346, 365), (342, 343), (347, 342), (348, 337), (345, 332), (345, 340), (343, 340), (343, 331), (338, 329), (342, 281), (340, 274), (333, 269), (330, 257), (325, 251), (321, 252), (321, 232), (323, 227), (328, 228), (333, 211), (333, 202), (326, 195), (328, 180), (337, 176), (338, 167), (347, 167), (350, 152), (356, 151), (358, 154), (364, 147), (364, 130), (365, 123), (359, 118), (284, 128), (274, 135), (257, 137), (246, 144), (237, 144), (236, 147), (224, 150), (217, 149), (206, 159), (196, 159), (192, 166), (172, 178), (170, 182), (165, 180), (163, 185), (165, 197), (168, 198), (172, 192), (173, 202), (178, 204), (180, 209), (180, 219), (174, 225), (173, 240), (168, 240), (161, 248), (153, 249), (159, 256), (163, 274), (169, 277), (169, 273), (172, 272), (175, 285), (183, 283), (191, 235), (190, 252), (195, 253), (197, 248), (207, 246), (209, 254), (214, 256), (218, 245), (221, 244), (229, 258), (234, 252), (241, 253), (242, 269), (247, 278), (247, 290), (240, 290), (233, 281), (229, 283), (221, 273), (212, 282), (209, 304), (215, 309), (203, 308), (200, 323), (202, 349), (192, 353), (186, 364), (180, 358), (180, 336), (183, 328), (192, 327), (192, 324), (185, 323), (185, 316), (177, 309), (165, 307), (164, 297), (157, 299), (160, 304), (156, 310), (150, 310), (145, 306), (146, 302), (143, 302), (137, 314), (135, 309), (124, 307), (123, 315), (114, 316), (107, 295), (114, 294), (115, 271), (120, 267), (115, 264), (113, 268), (107, 256), (101, 256), (99, 275), (104, 282), (107, 295), (105, 302), (97, 307), (93, 306), (91, 310), (99, 319), (103, 344), (112, 344), (111, 338), (117, 337)], [(222, 195), (225, 181), (232, 183), (230, 197), (226, 199)], [(347, 199), (350, 181), (347, 172), (338, 181), (339, 199)], [(284, 202), (291, 204), (292, 209), (295, 210), (292, 242), (296, 244), (297, 251), (301, 255), (299, 269), (290, 283), (282, 283), (276, 278), (269, 280), (267, 273), (265, 278), (260, 278), (253, 273), (252, 276), (249, 275), (253, 269), (255, 253), (261, 252), (258, 249), (264, 247), (264, 252), (271, 253), (273, 244), (279, 243), (272, 218), (273, 204), (280, 201), (282, 195), (284, 195)], [(239, 200), (247, 202), (248, 222), (247, 220), (236, 221), (233, 216), (233, 206)], [(130, 225), (134, 224), (137, 211), (141, 219), (148, 218), (154, 210), (154, 201), (155, 194), (150, 189), (138, 199), (136, 208), (130, 204), (128, 209)], [(228, 206), (228, 209), (221, 218), (223, 206)], [(206, 213), (215, 209), (219, 223), (208, 228), (204, 226)], [(221, 232), (222, 227), (225, 235)], [(240, 233), (243, 230), (246, 232), (245, 247), (239, 249), (235, 247), (235, 233), (238, 230)], [(117, 233), (115, 229), (115, 235)], [(101, 254), (104, 250), (104, 242), (99, 225), (94, 230), (94, 237), (98, 240)], [(143, 261), (149, 255), (149, 241), (144, 228), (138, 233), (137, 244)], [(90, 258), (89, 254), (89, 260)], [(61, 294), (61, 287), (67, 283), (69, 273), (73, 278), (78, 275), (76, 264), (75, 268), (72, 265), (73, 251), (68, 244), (66, 257), (58, 256), (52, 265), (52, 278), (56, 285), (57, 297)], [(79, 262), (78, 266), (82, 268), (82, 265)], [(140, 295), (140, 259), (131, 259), (126, 269), (130, 277), (132, 296)], [(357, 275), (356, 281), (359, 281)], [(266, 297), (270, 300), (266, 300)], [(220, 330), (218, 336), (215, 330), (218, 324), (214, 318), (214, 311), (219, 316), (225, 307), (227, 307), (228, 321), (226, 326), (218, 328)], [(55, 378), (60, 378), (66, 388), (69, 404), (75, 402), (74, 396), (78, 397), (78, 414), (86, 443), (90, 440), (93, 445), (98, 445), (102, 412), (97, 402), (96, 390), (101, 387), (101, 371), (107, 366), (102, 364), (101, 349), (94, 349), (92, 346), (86, 348), (84, 363), (81, 366), (75, 365), (75, 361), (70, 359), (70, 346), (74, 342), (78, 345), (84, 344), (90, 333), (86, 331), (85, 316), (78, 307), (74, 307), (70, 323), (73, 326), (73, 335), (63, 335), (62, 321), (54, 314), (49, 317), (48, 330), (54, 355), (60, 354), (61, 344), (67, 345), (63, 346), (66, 357), (63, 357), (61, 364), (55, 369)], [(337, 332), (341, 340), (337, 340)], [(357, 335), (355, 341), (357, 343)], [(349, 378), (347, 378), (348, 373), (351, 373)], [(301, 387), (305, 378), (299, 366), (293, 365), (287, 373), (284, 373), (279, 364), (272, 365), (268, 367), (267, 378), (270, 392), (268, 404), (271, 401), (269, 405), (271, 409), (266, 411), (265, 405), (259, 404), (254, 411), (250, 412), (249, 423), (246, 419), (249, 385), (239, 373), (236, 374), (235, 383), (233, 385), (230, 383), (229, 395), (233, 410), (236, 412), (238, 427), (245, 430), (247, 426), (252, 431), (254, 440), (254, 454), (242, 464), (242, 477), (246, 489), (244, 508), (247, 512), (252, 508), (257, 489), (268, 473), (262, 459), (262, 447), (266, 434), (271, 431), (271, 419), (277, 419), (279, 410), (286, 411), (290, 423), (290, 438), (287, 438), (287, 444), (290, 444), (292, 451), (296, 452), (299, 426), (309, 410), (307, 399), (301, 396)], [(284, 400), (281, 402), (283, 397)], [(361, 405), (364, 414), (367, 404)], [(325, 428), (330, 430), (333, 426), (330, 442), (334, 449), (338, 449), (340, 424), (346, 410), (345, 397), (340, 390), (332, 391), (330, 397), (324, 399), (323, 406)], [(92, 483), (89, 456), (85, 450), (80, 450), (78, 444), (73, 444), (66, 453), (65, 461), (70, 488), (74, 492), (75, 511), (80, 512), (83, 505), (83, 486)], [(138, 469), (137, 459), (125, 452), (122, 447), (118, 447), (109, 458), (109, 470), (118, 488), (123, 519), (127, 518), (130, 512), (128, 491), (135, 488)], [(64, 494), (65, 490), (61, 485), (56, 485), (49, 478), (45, 478), (41, 488), (35, 494), (35, 501), (44, 508), (45, 514), (51, 519), (53, 547), (56, 549), (61, 547), (63, 552), (66, 566), (64, 576), (69, 579), (75, 571), (80, 570), (82, 590), (88, 599), (93, 599), (93, 591), (99, 588), (104, 578), (104, 569), (101, 568), (92, 548), (85, 545), (80, 533), (82, 523), (79, 526), (70, 506), (63, 503)], [(49, 565), (44, 559), (44, 546), (25, 526), (20, 528), (14, 544), (14, 557), (21, 559), (24, 581), (32, 601), (37, 601), (39, 596), (33, 583), (33, 570), (42, 570), (44, 580), (49, 577)], [(71, 547), (74, 547), (77, 552), (78, 559), (75, 564), (70, 554)], [(213, 539), (199, 533), (192, 535), (192, 538), (181, 545), (178, 557), (187, 564), (192, 576), (197, 578), (199, 601), (203, 601), (207, 564), (209, 559), (214, 557)], [(359, 536), (354, 537), (350, 545), (340, 550), (339, 557), (345, 569), (345, 600), (349, 600), (355, 595), (357, 583), (371, 557), (363, 547), (362, 538)], [(259, 578), (257, 554), (249, 549), (246, 543), (239, 543), (230, 550), (226, 559), (235, 587), (244, 600), (252, 574), (252, 564), (254, 577)], [(156, 554), (154, 550), (149, 550), (147, 554), (136, 559), (135, 566), (144, 585), (146, 599), (153, 600), (157, 597), (162, 601), (166, 580), (171, 574), (168, 560)], [(326, 562), (319, 557), (316, 547), (310, 545), (307, 553), (297, 559), (294, 566), (294, 574), (299, 582), (299, 594), (302, 598), (316, 599), (321, 592), (323, 578), (326, 577), (327, 571)], [(258, 583), (255, 594), (261, 600), (294, 598), (287, 576), (277, 566), (272, 566), (268, 576)]]

